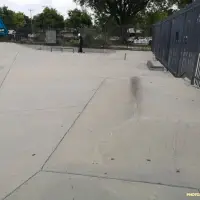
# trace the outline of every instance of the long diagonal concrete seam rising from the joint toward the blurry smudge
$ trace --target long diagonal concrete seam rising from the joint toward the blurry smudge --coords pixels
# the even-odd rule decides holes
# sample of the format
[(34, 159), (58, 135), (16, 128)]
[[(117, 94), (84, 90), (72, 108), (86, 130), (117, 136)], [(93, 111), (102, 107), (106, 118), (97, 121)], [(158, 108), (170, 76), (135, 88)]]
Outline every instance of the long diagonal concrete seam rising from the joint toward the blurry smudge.
[(43, 170), (44, 166), (46, 165), (46, 163), (49, 161), (49, 159), (51, 158), (51, 156), (54, 154), (54, 152), (57, 150), (57, 148), (59, 147), (59, 145), (61, 144), (61, 142), (64, 140), (65, 136), (70, 132), (70, 130), (73, 128), (73, 126), (75, 125), (75, 123), (77, 122), (77, 120), (80, 118), (80, 116), (82, 115), (82, 113), (84, 112), (84, 110), (87, 108), (88, 104), (92, 101), (92, 99), (94, 98), (94, 96), (96, 95), (96, 93), (98, 92), (98, 90), (101, 88), (101, 86), (104, 84), (106, 78), (101, 81), (100, 85), (98, 86), (98, 88), (95, 90), (94, 94), (91, 96), (91, 98), (88, 100), (88, 102), (85, 104), (84, 108), (82, 109), (82, 111), (78, 114), (78, 116), (76, 117), (76, 119), (74, 120), (74, 122), (71, 124), (71, 126), (69, 127), (69, 129), (67, 130), (67, 132), (63, 135), (63, 137), (61, 138), (61, 140), (58, 142), (58, 144), (56, 145), (55, 149), (51, 152), (51, 154), (48, 156), (48, 158), (45, 160), (44, 164), (41, 167), (41, 170)]

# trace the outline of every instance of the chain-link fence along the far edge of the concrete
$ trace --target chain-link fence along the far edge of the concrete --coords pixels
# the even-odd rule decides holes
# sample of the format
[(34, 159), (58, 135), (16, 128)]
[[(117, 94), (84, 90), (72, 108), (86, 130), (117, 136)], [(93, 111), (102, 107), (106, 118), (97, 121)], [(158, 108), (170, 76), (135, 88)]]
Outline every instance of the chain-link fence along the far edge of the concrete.
[[(49, 42), (47, 32), (55, 32), (55, 42)], [(26, 34), (25, 34), (26, 33)], [(37, 30), (33, 34), (27, 31), (17, 32), (10, 36), (12, 41), (26, 44), (44, 44), (78, 47), (78, 33), (83, 37), (84, 48), (119, 48), (119, 49), (136, 49), (150, 50), (149, 42), (151, 38), (145, 38), (142, 30), (135, 30), (133, 25), (127, 26), (110, 26), (106, 24), (102, 28), (67, 28), (60, 30)], [(138, 41), (140, 42), (138, 42)], [(53, 41), (53, 39), (52, 39)]]

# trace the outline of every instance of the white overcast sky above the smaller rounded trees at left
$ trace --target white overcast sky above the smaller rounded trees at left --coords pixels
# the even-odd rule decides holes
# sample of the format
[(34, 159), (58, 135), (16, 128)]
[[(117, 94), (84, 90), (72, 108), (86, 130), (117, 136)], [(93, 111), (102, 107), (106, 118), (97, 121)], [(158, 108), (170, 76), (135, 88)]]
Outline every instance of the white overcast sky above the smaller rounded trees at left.
[(67, 10), (76, 8), (73, 0), (0, 0), (0, 6), (8, 6), (14, 11), (24, 12), (30, 16), (29, 9), (32, 9), (33, 15), (41, 12), (44, 6), (56, 8), (65, 17)]

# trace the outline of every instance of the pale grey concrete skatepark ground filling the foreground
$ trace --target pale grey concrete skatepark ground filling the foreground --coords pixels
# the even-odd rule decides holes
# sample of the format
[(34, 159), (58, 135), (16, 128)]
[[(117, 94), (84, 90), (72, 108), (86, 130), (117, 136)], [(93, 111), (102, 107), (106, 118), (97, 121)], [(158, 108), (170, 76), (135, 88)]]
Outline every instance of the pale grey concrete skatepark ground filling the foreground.
[(200, 92), (149, 71), (150, 52), (0, 52), (0, 199), (198, 192)]

